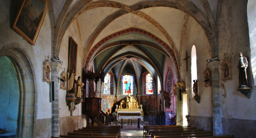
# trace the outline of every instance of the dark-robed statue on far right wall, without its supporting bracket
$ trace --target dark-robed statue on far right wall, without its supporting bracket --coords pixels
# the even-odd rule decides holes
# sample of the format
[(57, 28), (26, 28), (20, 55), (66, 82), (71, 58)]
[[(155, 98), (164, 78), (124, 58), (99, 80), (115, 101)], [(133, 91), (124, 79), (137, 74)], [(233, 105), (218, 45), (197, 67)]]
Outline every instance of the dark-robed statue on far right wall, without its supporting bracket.
[(243, 57), (243, 53), (239, 53), (239, 63), (238, 63), (238, 68), (239, 68), (239, 85), (244, 86), (244, 85), (249, 85), (248, 78), (247, 78), (247, 66), (248, 66), (248, 61), (246, 57)]

